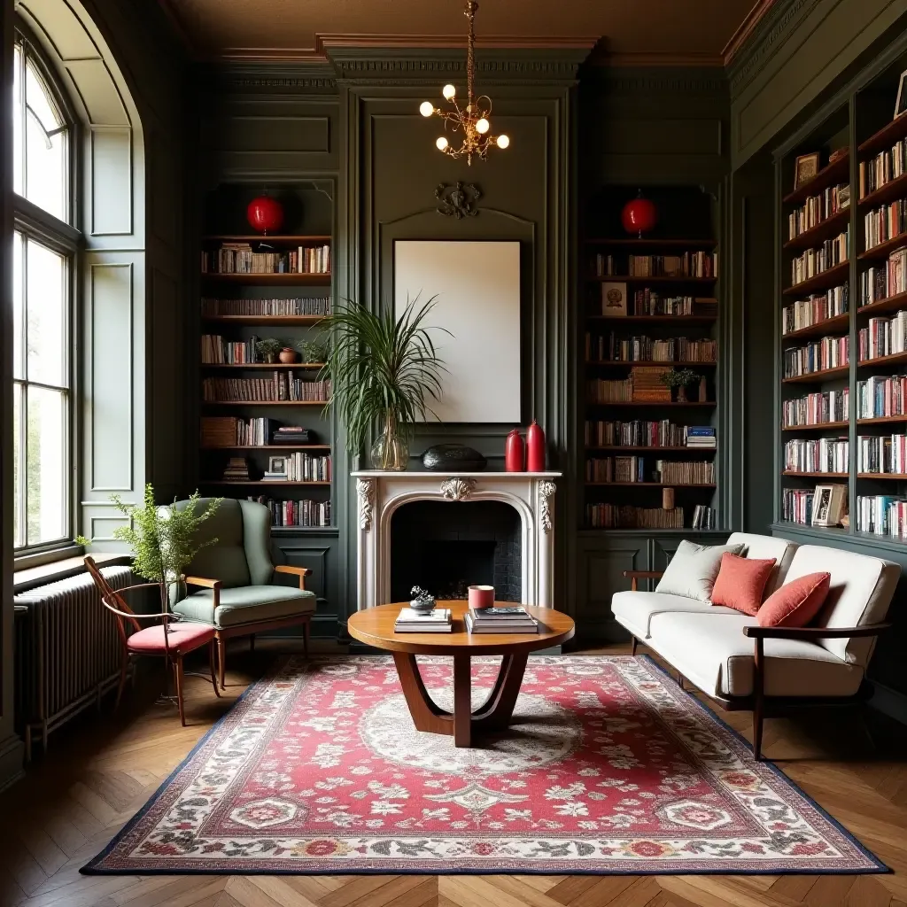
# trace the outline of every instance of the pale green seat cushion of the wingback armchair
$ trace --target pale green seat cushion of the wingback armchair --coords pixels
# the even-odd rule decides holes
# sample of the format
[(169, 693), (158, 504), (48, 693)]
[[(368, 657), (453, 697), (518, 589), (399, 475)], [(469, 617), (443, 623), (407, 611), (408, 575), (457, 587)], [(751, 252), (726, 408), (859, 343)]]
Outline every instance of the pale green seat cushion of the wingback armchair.
[[(214, 593), (210, 589), (195, 592), (178, 602), (173, 610), (192, 620), (211, 622)], [(314, 592), (291, 586), (241, 586), (221, 589), (214, 626), (220, 629), (239, 624), (258, 623), (310, 614), (315, 610)]]

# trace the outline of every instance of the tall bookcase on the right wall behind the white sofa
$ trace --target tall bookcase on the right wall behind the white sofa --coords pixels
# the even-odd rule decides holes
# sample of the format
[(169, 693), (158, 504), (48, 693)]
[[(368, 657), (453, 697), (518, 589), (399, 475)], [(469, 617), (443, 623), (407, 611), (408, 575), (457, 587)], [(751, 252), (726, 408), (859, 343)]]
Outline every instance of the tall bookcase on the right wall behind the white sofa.
[[(776, 158), (782, 527), (907, 543), (907, 116), (892, 119), (905, 68)], [(812, 152), (820, 169), (795, 185)], [(846, 487), (843, 526), (812, 524), (818, 484)]]

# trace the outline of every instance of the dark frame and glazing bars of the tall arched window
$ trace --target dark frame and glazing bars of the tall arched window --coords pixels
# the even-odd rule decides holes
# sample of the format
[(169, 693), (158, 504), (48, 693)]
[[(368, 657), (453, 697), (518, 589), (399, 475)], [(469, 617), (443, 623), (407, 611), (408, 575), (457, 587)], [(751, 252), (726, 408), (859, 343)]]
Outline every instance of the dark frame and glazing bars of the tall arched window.
[[(64, 149), (64, 208), (68, 219), (61, 220), (39, 207), (34, 201), (26, 199), (18, 192), (13, 192), (13, 219), (14, 229), (21, 233), (25, 239), (33, 241), (50, 249), (55, 253), (63, 256), (64, 259), (64, 300), (63, 300), (63, 317), (64, 325), (64, 356), (63, 364), (63, 382), (65, 386), (64, 400), (66, 406), (65, 422), (63, 424), (63, 456), (66, 461), (63, 474), (63, 506), (65, 514), (63, 519), (63, 535), (54, 540), (42, 541), (29, 544), (27, 540), (27, 530), (24, 544), (16, 544), (14, 540), (14, 563), (15, 569), (21, 570), (32, 566), (35, 562), (44, 562), (55, 560), (54, 555), (66, 557), (73, 553), (73, 536), (76, 514), (78, 512), (78, 474), (79, 474), (79, 435), (78, 435), (78, 415), (80, 412), (80, 397), (78, 387), (78, 329), (77, 320), (78, 312), (78, 288), (80, 286), (80, 265), (83, 250), (83, 234), (74, 224), (78, 222), (80, 215), (79, 200), (80, 193), (80, 171), (79, 171), (79, 122), (73, 116), (73, 111), (68, 99), (63, 92), (60, 84), (60, 78), (54, 74), (53, 68), (47, 61), (40, 45), (34, 40), (27, 25), (21, 18), (16, 16), (15, 19), (15, 44), (21, 48), (23, 55), (23, 72), (27, 63), (32, 63), (37, 72), (44, 90), (48, 93), (51, 102), (54, 103), (56, 111), (63, 120), (66, 129), (66, 146)], [(23, 86), (24, 91), (24, 86)], [(23, 108), (24, 109), (24, 108)], [(24, 112), (24, 117), (28, 113)], [(23, 123), (23, 126), (25, 123)], [(23, 133), (25, 132), (23, 128)], [(23, 134), (23, 142), (25, 135)], [(23, 167), (25, 163), (25, 154), (23, 151)], [(27, 171), (24, 171), (24, 177)], [(24, 182), (24, 189), (27, 189), (27, 182)], [(23, 272), (23, 280), (27, 280), (27, 275)], [(27, 326), (27, 284), (24, 285), (24, 311), (23, 311), (23, 333)], [(23, 351), (23, 355), (25, 352)], [(27, 370), (26, 373), (27, 375)], [(14, 431), (20, 438), (27, 436), (25, 430), (25, 420), (27, 415), (27, 388), (29, 385), (34, 386), (52, 386), (44, 385), (40, 381), (30, 381), (27, 377), (13, 379), (14, 385), (20, 385), (23, 390), (23, 404), (19, 411), (19, 424), (14, 425)], [(54, 390), (58, 390), (53, 385)], [(27, 453), (24, 447), (20, 445), (20, 465), (27, 468)], [(20, 473), (24, 476), (24, 471)], [(14, 507), (21, 513), (24, 502), (27, 502), (25, 494), (21, 494), (14, 501)], [(27, 504), (26, 504), (27, 512)]]

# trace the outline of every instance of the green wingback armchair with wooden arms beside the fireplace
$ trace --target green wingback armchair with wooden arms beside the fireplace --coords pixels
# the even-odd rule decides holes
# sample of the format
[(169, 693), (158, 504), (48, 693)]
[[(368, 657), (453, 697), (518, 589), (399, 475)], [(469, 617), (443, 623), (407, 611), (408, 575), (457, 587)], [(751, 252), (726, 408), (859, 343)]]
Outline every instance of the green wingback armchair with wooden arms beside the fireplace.
[[(201, 498), (204, 510), (209, 499)], [(177, 503), (178, 508), (187, 501)], [(315, 593), (306, 590), (305, 567), (271, 563), (271, 514), (264, 504), (225, 498), (201, 523), (196, 541), (217, 539), (202, 548), (186, 569), (171, 600), (183, 617), (214, 627), (218, 644), (220, 688), (224, 688), (227, 639), (278, 627), (301, 625), (308, 652), (308, 629), (315, 613)], [(275, 584), (277, 574), (296, 577), (297, 586)]]

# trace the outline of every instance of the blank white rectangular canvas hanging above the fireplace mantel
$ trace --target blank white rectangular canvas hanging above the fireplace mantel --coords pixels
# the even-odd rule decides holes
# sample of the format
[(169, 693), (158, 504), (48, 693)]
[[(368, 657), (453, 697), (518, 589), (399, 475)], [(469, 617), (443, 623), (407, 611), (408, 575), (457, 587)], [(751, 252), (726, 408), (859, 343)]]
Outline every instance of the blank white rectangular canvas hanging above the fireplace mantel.
[[(520, 421), (520, 243), (394, 243), (397, 317), (436, 296), (426, 324), (447, 371), (432, 404), (442, 422)], [(429, 417), (431, 419), (431, 417)]]

